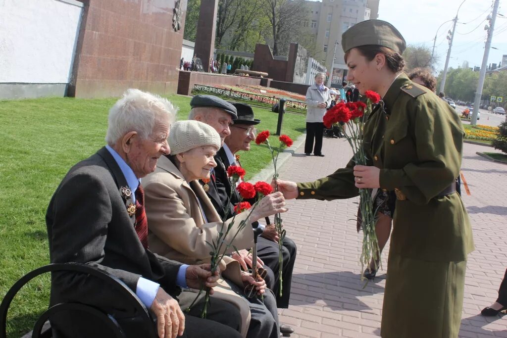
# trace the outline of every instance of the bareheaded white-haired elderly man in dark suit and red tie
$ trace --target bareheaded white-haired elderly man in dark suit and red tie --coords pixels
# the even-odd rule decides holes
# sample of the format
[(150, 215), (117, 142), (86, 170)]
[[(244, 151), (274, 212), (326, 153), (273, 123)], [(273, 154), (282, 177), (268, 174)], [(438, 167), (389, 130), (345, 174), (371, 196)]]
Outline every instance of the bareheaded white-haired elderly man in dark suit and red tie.
[[(156, 316), (160, 337), (239, 338), (239, 314), (219, 299), (208, 310), (207, 318), (214, 321), (184, 315), (180, 309), (193, 300), (186, 299), (182, 287), (216, 285), (218, 274), (212, 276), (209, 265), (182, 265), (148, 249), (139, 179), (155, 170), (160, 156), (169, 154), (166, 139), (174, 115), (169, 101), (135, 89), (116, 102), (108, 118), (107, 145), (71, 168), (51, 199), (46, 214), (50, 259), (80, 262), (119, 278)], [(128, 337), (143, 336), (132, 309), (90, 276), (54, 273), (51, 304), (64, 302), (105, 308)], [(190, 315), (200, 314), (191, 310)], [(60, 313), (51, 323), (58, 337), (111, 336), (105, 326), (78, 312)]]

